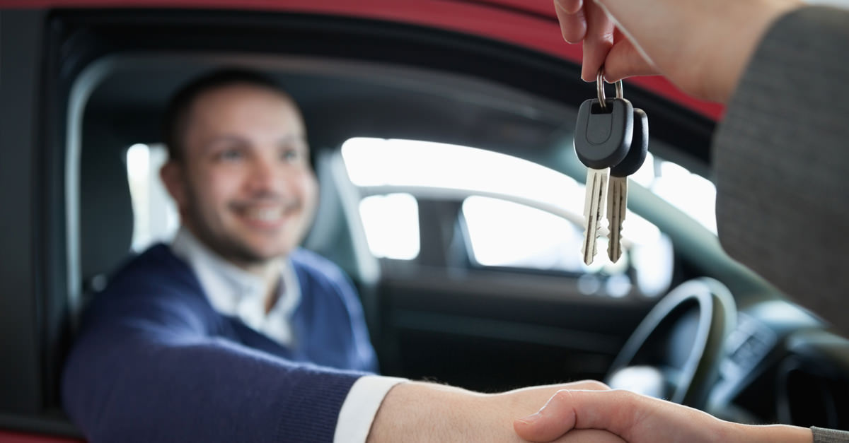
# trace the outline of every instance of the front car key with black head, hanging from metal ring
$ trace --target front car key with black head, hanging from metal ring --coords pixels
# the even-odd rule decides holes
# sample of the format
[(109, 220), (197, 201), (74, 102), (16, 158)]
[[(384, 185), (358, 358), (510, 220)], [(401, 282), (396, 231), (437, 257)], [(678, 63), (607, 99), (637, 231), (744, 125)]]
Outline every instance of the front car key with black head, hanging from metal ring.
[(593, 262), (597, 252), (601, 219), (606, 209), (610, 167), (623, 160), (633, 138), (633, 106), (621, 98), (604, 98), (602, 70), (599, 70), (599, 98), (584, 101), (578, 109), (575, 152), (587, 166), (587, 194), (584, 201), (584, 263)]

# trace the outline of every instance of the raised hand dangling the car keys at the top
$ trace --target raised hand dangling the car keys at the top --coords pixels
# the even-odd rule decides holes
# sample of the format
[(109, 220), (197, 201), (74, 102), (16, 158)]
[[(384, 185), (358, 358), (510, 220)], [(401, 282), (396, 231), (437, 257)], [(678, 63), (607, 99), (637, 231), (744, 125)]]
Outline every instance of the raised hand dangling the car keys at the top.
[(567, 42), (583, 42), (581, 77), (661, 74), (724, 103), (767, 27), (801, 0), (554, 0)]

